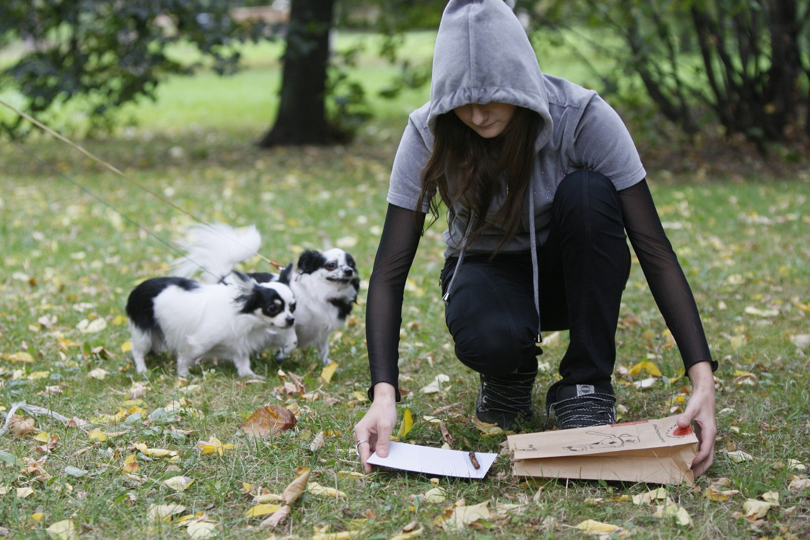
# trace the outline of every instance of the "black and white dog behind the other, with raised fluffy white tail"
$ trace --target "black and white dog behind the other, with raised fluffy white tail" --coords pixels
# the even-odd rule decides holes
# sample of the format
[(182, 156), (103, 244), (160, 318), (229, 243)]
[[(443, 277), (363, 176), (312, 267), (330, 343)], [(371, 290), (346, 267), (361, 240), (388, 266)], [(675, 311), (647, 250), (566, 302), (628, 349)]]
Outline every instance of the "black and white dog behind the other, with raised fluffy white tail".
[[(210, 270), (211, 276), (228, 275), (237, 262), (254, 255), (261, 244), (261, 236), (255, 227), (237, 231), (218, 224), (194, 227), (190, 233), (192, 240), (185, 244), (188, 258)], [(253, 253), (247, 253), (249, 249), (253, 249)], [(182, 260), (178, 261), (177, 268), (186, 275), (188, 270), (196, 270), (196, 266), (189, 266)], [(248, 275), (266, 287), (279, 283), (280, 279), (279, 274)], [(203, 279), (211, 278), (203, 276)], [(297, 347), (316, 347), (322, 363), (329, 364), (330, 335), (345, 324), (360, 289), (355, 261), (343, 249), (324, 252), (309, 249), (301, 253), (296, 273), (289, 281), (296, 297)], [(288, 355), (288, 348), (282, 347), (275, 356), (280, 361)]]

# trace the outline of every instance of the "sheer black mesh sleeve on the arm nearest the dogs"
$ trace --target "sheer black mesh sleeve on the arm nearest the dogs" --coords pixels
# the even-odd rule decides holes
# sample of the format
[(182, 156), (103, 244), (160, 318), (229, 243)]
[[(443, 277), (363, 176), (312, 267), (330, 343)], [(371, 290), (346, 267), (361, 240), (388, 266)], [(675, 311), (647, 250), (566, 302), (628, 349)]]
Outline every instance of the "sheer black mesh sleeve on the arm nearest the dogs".
[(377, 257), (369, 279), (365, 306), (365, 338), (369, 347), (371, 388), (387, 382), (397, 389), (399, 402), (399, 326), (402, 325), (403, 295), (408, 271), (422, 236), (424, 214), (414, 220), (413, 210), (388, 205)]

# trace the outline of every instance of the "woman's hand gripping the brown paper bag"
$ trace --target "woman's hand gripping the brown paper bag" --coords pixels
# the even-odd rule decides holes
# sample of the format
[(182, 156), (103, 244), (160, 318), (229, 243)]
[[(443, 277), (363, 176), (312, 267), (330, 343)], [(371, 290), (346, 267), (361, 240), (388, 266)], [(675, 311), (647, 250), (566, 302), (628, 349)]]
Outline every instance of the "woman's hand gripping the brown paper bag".
[(692, 396), (686, 403), (684, 414), (678, 419), (679, 427), (696, 423), (695, 435), (699, 441), (697, 456), (692, 461), (692, 471), (703, 474), (714, 463), (714, 437), (717, 425), (714, 422), (714, 376), (709, 362), (698, 362), (689, 368), (692, 381)]

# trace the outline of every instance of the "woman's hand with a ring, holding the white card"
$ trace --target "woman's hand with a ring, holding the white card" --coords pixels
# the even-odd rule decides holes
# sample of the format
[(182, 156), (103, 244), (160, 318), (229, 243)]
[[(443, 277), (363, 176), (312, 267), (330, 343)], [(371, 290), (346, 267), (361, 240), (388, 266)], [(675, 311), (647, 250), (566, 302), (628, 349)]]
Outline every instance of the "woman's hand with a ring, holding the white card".
[[(714, 388), (714, 387), (713, 387)], [(374, 401), (355, 426), (354, 440), (366, 474), (371, 472), (369, 457), (375, 451), (379, 457), (388, 456), (388, 438), (397, 423), (397, 399), (394, 386), (387, 382), (374, 385)]]

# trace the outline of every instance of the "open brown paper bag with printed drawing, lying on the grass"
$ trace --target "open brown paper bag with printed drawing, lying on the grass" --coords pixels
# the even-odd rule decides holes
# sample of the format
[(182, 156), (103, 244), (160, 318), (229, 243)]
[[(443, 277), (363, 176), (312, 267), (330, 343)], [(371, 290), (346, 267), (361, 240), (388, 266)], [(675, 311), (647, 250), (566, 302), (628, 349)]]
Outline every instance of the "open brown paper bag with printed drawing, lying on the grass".
[(509, 436), (514, 475), (691, 486), (697, 436), (679, 416)]

